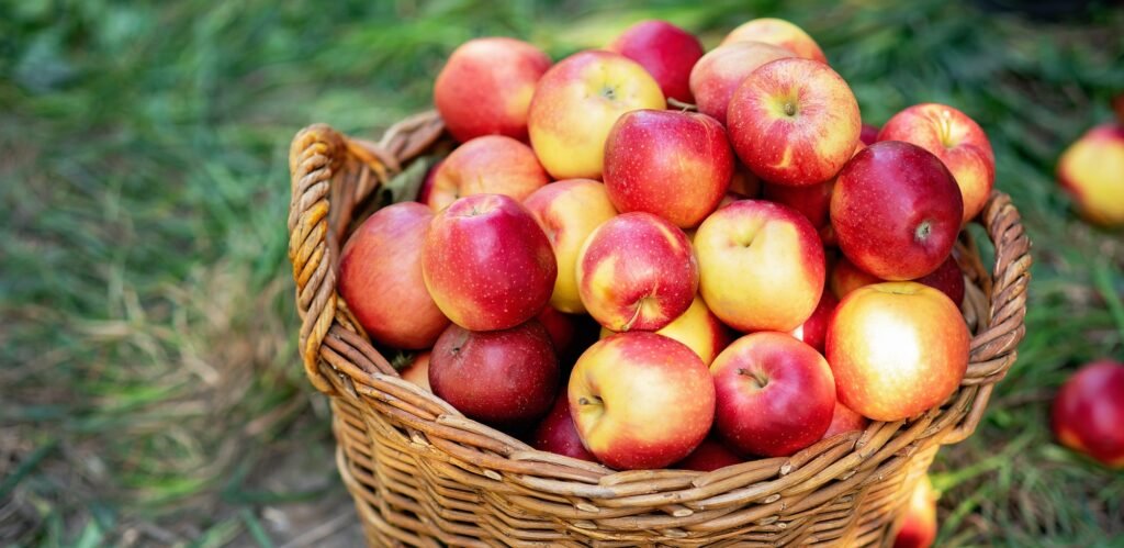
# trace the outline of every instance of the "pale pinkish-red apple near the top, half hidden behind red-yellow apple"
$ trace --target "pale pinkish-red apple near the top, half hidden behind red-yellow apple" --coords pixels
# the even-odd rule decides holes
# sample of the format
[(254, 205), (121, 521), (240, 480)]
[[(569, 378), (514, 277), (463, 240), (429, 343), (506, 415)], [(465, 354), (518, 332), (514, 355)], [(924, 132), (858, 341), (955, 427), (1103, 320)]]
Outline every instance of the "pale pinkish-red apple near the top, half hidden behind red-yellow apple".
[(763, 42), (735, 42), (716, 47), (691, 69), (691, 93), (699, 113), (726, 124), (726, 109), (734, 90), (759, 66), (796, 54)]

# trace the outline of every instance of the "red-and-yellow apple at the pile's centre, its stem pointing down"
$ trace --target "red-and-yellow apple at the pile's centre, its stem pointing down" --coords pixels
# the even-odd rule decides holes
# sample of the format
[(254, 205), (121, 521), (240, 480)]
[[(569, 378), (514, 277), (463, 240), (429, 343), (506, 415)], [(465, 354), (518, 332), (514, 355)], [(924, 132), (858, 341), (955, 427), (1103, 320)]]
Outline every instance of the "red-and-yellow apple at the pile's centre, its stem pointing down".
[(687, 312), (699, 270), (683, 231), (650, 213), (606, 221), (578, 255), (581, 302), (611, 331), (655, 331)]

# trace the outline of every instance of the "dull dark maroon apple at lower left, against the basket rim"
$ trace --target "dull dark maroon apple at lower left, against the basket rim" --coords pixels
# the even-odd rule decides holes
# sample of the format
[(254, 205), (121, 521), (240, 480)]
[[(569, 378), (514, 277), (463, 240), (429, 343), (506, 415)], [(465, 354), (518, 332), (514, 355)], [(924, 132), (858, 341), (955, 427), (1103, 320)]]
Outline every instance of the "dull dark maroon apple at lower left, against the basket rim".
[(469, 419), (518, 428), (550, 410), (559, 388), (559, 360), (537, 320), (500, 331), (453, 324), (433, 347), (429, 386)]

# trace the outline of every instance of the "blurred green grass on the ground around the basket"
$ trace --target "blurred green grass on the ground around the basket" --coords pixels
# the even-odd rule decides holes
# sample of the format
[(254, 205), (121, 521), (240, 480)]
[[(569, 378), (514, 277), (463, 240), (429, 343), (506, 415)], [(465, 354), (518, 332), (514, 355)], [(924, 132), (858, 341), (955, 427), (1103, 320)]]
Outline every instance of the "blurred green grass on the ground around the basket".
[(867, 122), (930, 100), (976, 118), (1033, 237), (1019, 361), (934, 468), (942, 541), (1121, 541), (1124, 475), (1048, 429), (1076, 366), (1124, 358), (1124, 237), (1076, 219), (1052, 177), (1124, 90), (1121, 10), (546, 5), (0, 1), (0, 509), (18, 514), (0, 543), (264, 546), (296, 534), (279, 509), (350, 511), (296, 353), (285, 154), (301, 126), (378, 136), (427, 108), (472, 36), (560, 59), (642, 17), (713, 46), (767, 15), (816, 37)]

